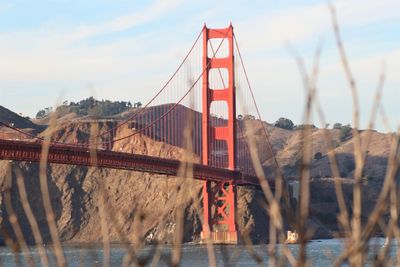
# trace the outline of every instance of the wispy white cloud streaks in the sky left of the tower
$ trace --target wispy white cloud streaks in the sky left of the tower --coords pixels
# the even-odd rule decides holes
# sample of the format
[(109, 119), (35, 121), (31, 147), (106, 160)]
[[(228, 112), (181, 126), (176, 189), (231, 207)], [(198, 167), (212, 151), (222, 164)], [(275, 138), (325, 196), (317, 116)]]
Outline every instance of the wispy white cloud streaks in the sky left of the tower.
[(135, 72), (156, 62), (165, 63), (170, 59), (166, 54), (171, 51), (143, 52), (154, 41), (154, 32), (124, 36), (105, 44), (70, 42), (139, 26), (159, 18), (181, 2), (157, 0), (144, 10), (64, 33), (46, 27), (0, 33), (1, 81), (101, 80), (105, 75)]

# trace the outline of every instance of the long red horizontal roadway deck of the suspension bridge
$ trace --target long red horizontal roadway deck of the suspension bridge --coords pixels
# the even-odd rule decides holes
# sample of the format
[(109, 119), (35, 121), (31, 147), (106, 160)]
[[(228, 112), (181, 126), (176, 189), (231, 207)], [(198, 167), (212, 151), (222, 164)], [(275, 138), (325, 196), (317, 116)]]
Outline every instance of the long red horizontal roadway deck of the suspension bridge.
[[(39, 162), (42, 152), (41, 142), (0, 139), (0, 160)], [(57, 164), (97, 166), (154, 174), (177, 176), (181, 164), (178, 160), (164, 159), (139, 154), (129, 154), (109, 150), (96, 150), (97, 160), (90, 156), (85, 147), (52, 144), (47, 162)], [(237, 185), (258, 185), (258, 178), (236, 170), (193, 164), (193, 177), (199, 180), (236, 181)], [(271, 182), (270, 182), (271, 184)], [(273, 183), (272, 183), (273, 184)]]

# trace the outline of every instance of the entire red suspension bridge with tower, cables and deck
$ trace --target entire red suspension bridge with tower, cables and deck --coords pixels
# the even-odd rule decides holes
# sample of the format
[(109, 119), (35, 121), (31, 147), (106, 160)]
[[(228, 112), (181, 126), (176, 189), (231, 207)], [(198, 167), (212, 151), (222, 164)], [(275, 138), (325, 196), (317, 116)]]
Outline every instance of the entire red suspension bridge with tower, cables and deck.
[[(116, 138), (124, 125), (132, 132)], [(142, 135), (191, 150), (199, 159), (199, 163), (193, 162), (193, 178), (204, 181), (202, 239), (215, 243), (237, 243), (236, 187), (260, 184), (250, 155), (253, 131), (261, 131), (263, 138), (257, 142), (257, 153), (273, 157), (232, 25), (224, 29), (204, 25), (176, 71), (154, 97), (97, 136), (61, 141), (3, 122), (0, 126), (25, 136), (23, 140), (2, 136), (1, 160), (39, 162), (44, 144), (48, 144), (49, 163), (177, 176), (181, 161), (120, 152), (121, 142)], [(185, 130), (190, 133), (186, 138), (189, 145), (185, 145)], [(94, 148), (95, 157), (90, 148)], [(268, 182), (274, 186), (273, 180)]]

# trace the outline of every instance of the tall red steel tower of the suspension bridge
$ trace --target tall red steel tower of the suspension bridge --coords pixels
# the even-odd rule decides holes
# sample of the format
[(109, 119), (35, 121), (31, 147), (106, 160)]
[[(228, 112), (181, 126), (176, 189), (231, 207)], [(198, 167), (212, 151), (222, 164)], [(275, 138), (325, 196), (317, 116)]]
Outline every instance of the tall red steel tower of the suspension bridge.
[[(222, 38), (228, 42), (229, 52), (226, 58), (209, 58), (208, 46), (211, 39)], [(236, 169), (236, 98), (233, 57), (233, 27), (225, 29), (203, 28), (203, 89), (202, 89), (202, 163), (212, 165), (212, 153), (220, 145), (216, 141), (224, 141), (227, 145), (228, 168)], [(228, 85), (222, 89), (211, 89), (209, 75), (213, 68), (226, 68)], [(210, 117), (213, 101), (225, 101), (228, 106), (226, 126), (215, 126)], [(220, 152), (220, 151), (218, 151)], [(216, 153), (214, 152), (214, 155)], [(215, 156), (216, 164), (220, 159)], [(214, 243), (237, 243), (236, 227), (236, 181), (227, 179), (224, 182), (206, 180), (203, 185), (204, 222), (202, 239), (210, 239)]]

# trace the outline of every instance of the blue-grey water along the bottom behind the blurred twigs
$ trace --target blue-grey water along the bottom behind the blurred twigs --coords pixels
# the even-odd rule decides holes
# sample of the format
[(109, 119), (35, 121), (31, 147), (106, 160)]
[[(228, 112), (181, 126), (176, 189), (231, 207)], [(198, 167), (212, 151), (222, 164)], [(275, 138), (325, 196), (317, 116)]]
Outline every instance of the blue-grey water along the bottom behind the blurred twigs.
[[(372, 266), (373, 257), (384, 244), (383, 238), (375, 238), (370, 241), (370, 253), (368, 254), (368, 265)], [(290, 251), (296, 256), (298, 245), (288, 245)], [(102, 266), (103, 249), (100, 245), (65, 245), (63, 247), (68, 266)], [(311, 266), (330, 266), (340, 255), (343, 243), (339, 239), (314, 240), (307, 244), (308, 259)], [(391, 255), (396, 254), (396, 245), (390, 248)], [(254, 246), (255, 252), (260, 255), (265, 265), (268, 263), (267, 245)], [(35, 263), (40, 266), (40, 259), (37, 250), (30, 247)], [(52, 252), (52, 247), (46, 247), (49, 260), (55, 266), (56, 260)], [(172, 248), (170, 246), (161, 247), (160, 261), (158, 266), (169, 266)], [(256, 261), (245, 246), (215, 246), (215, 253), (218, 266), (229, 266), (229, 262), (235, 263), (234, 266), (254, 266)], [(154, 247), (146, 247), (140, 251), (139, 259), (146, 260), (153, 258), (156, 254)], [(123, 263), (126, 250), (123, 245), (111, 245), (111, 266), (120, 266)], [(8, 247), (0, 248), (0, 266), (25, 266), (26, 262), (21, 253), (15, 254)], [(146, 266), (150, 266), (148, 261)], [(181, 266), (208, 266), (207, 248), (199, 245), (183, 245)]]

